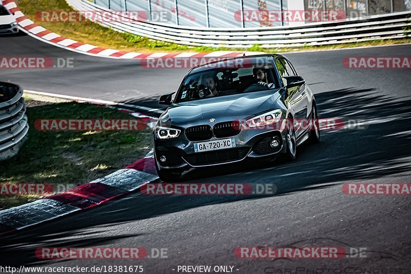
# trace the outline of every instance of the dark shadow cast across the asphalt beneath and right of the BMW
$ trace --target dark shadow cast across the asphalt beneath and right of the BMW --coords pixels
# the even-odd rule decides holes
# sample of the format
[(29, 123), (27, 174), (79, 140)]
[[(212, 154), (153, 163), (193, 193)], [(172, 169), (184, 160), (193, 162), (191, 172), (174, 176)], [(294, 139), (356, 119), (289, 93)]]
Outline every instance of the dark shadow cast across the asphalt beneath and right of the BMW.
[[(278, 194), (325, 188), (341, 181), (361, 182), (409, 170), (411, 100), (387, 97), (375, 89), (347, 88), (317, 94), (320, 118), (370, 122), (365, 130), (322, 131), (322, 142), (299, 147), (294, 162), (249, 162), (225, 168), (196, 169), (185, 181), (204, 183), (274, 183)], [(213, 174), (213, 177), (210, 177)], [(199, 179), (201, 178), (201, 179)], [(267, 197), (267, 196), (264, 196)], [(8, 264), (40, 264), (34, 250), (41, 246), (98, 246), (116, 238), (92, 234), (87, 228), (110, 230), (111, 225), (153, 218), (204, 205), (260, 199), (257, 196), (189, 195), (148, 196), (135, 193), (95, 209), (43, 224), (2, 239), (2, 260)], [(275, 199), (275, 198), (274, 198)], [(74, 220), (74, 221), (73, 221)], [(46, 232), (47, 231), (47, 232)], [(81, 238), (68, 240), (68, 236)], [(119, 236), (129, 237), (129, 235)], [(72, 237), (74, 238), (74, 237)], [(18, 256), (17, 256), (18, 255)], [(9, 259), (9, 260), (8, 260)]]

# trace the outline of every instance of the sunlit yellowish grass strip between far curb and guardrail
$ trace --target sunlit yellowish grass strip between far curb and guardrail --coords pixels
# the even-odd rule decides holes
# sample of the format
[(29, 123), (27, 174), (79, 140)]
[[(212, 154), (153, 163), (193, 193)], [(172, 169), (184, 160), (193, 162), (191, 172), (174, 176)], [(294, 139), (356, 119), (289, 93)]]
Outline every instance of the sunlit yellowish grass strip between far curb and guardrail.
[(58, 33), (67, 38), (99, 46), (102, 48), (111, 48), (122, 51), (131, 52), (211, 52), (218, 50), (233, 50), (233, 51), (264, 51), (267, 53), (277, 52), (293, 52), (304, 50), (320, 50), (320, 49), (340, 49), (353, 48), (364, 46), (381, 46), (411, 43), (411, 38), (400, 38), (396, 40), (377, 40), (370, 42), (346, 43), (329, 46), (304, 46), (301, 48), (261, 48), (259, 45), (254, 45), (248, 49), (236, 48), (214, 48), (214, 47), (192, 47), (166, 43), (162, 41), (152, 40), (147, 37), (134, 35), (130, 33), (121, 33), (112, 29), (100, 26), (99, 24), (90, 21), (81, 23), (48, 23), (39, 22), (36, 20), (36, 12), (42, 10), (72, 10), (65, 0), (16, 0), (17, 5), (32, 21), (36, 24)]

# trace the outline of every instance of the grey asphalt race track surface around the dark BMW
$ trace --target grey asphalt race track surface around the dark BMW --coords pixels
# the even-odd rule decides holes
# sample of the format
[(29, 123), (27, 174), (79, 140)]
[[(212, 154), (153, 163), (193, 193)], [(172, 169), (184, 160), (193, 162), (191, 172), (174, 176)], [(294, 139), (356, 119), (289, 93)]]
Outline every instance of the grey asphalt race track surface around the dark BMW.
[[(186, 72), (81, 55), (25, 35), (0, 36), (0, 52), (74, 58), (74, 68), (0, 70), (0, 81), (28, 90), (152, 107), (158, 107), (159, 94), (177, 89)], [(1, 238), (0, 264), (142, 265), (145, 273), (177, 273), (179, 265), (230, 265), (235, 273), (340, 274), (336, 269), (346, 269), (347, 274), (360, 274), (378, 269), (372, 273), (383, 274), (381, 269), (386, 268), (392, 270), (387, 274), (410, 273), (410, 196), (342, 192), (343, 183), (411, 182), (410, 70), (343, 66), (348, 56), (409, 56), (410, 52), (411, 45), (403, 45), (285, 54), (314, 91), (320, 118), (365, 121), (368, 127), (322, 131), (321, 143), (299, 147), (292, 163), (249, 162), (184, 175), (185, 182), (275, 184), (274, 195), (131, 193)], [(366, 247), (368, 252), (366, 258), (343, 259), (234, 256), (240, 246), (298, 246), (307, 241), (314, 246)], [(167, 258), (37, 259), (34, 250), (46, 246), (166, 248)]]

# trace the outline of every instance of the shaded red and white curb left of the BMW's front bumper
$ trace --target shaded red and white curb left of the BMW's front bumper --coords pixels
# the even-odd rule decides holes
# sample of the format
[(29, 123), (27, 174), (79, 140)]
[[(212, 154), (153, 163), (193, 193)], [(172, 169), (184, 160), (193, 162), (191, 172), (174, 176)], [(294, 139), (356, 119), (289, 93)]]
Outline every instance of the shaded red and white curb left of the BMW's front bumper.
[(145, 158), (88, 184), (0, 211), (0, 234), (100, 205), (158, 179), (151, 151)]

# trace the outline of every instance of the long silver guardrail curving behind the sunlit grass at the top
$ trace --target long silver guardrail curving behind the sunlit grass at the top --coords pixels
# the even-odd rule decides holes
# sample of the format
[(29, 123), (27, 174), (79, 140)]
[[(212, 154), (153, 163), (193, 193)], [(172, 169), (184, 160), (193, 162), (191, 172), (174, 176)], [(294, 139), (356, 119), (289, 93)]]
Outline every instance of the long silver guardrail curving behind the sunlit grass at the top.
[[(66, 0), (77, 10), (108, 11), (87, 0)], [(104, 22), (122, 32), (191, 46), (249, 48), (302, 47), (410, 37), (411, 11), (373, 15), (340, 22), (310, 23), (297, 27), (199, 28), (147, 22)]]

